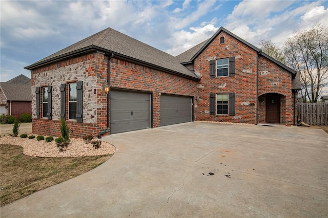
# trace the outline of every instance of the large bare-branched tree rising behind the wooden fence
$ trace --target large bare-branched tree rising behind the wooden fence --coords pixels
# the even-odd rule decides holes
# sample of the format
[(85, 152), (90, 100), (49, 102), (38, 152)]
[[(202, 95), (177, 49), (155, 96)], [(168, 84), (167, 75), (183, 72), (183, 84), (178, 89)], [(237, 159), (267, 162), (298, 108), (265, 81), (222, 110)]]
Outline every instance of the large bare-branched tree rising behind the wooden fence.
[(317, 102), (328, 85), (328, 28), (316, 24), (297, 31), (284, 43), (286, 64), (300, 72), (301, 97)]

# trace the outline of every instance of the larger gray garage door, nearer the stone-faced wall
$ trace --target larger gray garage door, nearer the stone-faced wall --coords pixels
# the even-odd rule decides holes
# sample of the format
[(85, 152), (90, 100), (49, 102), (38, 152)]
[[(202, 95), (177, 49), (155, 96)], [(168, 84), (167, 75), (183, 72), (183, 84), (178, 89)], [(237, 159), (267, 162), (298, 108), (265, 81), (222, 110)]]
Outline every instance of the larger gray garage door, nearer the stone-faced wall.
[(111, 91), (111, 134), (150, 128), (150, 94)]

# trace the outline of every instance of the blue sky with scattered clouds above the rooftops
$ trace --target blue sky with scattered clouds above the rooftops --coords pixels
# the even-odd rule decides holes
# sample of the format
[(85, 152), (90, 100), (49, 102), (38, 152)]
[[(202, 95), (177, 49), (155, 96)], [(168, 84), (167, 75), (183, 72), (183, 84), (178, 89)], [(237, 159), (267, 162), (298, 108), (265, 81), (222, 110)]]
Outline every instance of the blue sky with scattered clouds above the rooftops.
[(328, 1), (0, 1), (1, 75), (24, 67), (107, 27), (172, 55), (221, 26), (258, 46), (277, 46), (294, 31), (328, 25)]

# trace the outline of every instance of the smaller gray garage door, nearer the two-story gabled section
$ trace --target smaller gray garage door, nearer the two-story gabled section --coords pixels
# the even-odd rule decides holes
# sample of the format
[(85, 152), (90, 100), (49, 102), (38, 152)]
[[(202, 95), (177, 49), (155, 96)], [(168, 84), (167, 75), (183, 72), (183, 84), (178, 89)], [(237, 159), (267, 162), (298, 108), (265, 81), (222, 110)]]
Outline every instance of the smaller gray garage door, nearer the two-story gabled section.
[(160, 96), (160, 126), (192, 121), (192, 98), (177, 95)]

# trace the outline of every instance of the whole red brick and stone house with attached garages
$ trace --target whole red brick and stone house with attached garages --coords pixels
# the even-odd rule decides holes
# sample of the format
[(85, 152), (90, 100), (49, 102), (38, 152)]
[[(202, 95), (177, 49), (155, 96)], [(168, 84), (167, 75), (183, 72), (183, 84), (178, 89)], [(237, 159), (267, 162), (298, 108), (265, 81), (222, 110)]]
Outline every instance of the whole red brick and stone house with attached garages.
[[(195, 120), (295, 123), (299, 79), (224, 28), (176, 57), (111, 28), (37, 61), (33, 133), (120, 133)], [(107, 131), (105, 131), (107, 130)]]

